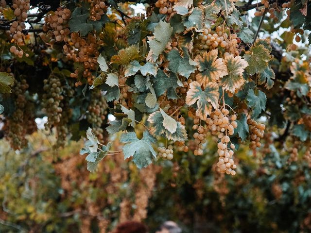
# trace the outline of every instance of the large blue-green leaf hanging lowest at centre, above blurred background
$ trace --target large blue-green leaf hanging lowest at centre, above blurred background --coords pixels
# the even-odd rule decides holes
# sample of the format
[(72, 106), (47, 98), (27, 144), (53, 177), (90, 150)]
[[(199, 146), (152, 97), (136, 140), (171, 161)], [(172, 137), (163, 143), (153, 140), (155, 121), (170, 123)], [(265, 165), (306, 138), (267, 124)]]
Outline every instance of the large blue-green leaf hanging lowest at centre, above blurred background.
[(134, 132), (122, 134), (120, 142), (127, 143), (123, 147), (124, 159), (133, 157), (133, 162), (139, 169), (151, 164), (152, 157), (156, 158), (156, 152), (151, 145), (156, 140), (148, 131), (144, 131), (140, 140)]

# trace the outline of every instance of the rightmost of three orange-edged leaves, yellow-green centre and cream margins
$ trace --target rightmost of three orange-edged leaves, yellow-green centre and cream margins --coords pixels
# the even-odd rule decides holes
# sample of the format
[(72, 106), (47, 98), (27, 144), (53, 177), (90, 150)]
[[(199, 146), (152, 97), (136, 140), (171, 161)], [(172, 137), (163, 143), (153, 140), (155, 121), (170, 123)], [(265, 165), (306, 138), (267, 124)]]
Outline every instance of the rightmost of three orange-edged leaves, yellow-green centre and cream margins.
[(227, 66), (228, 75), (221, 79), (221, 85), (226, 91), (234, 93), (242, 87), (245, 82), (243, 77), (244, 69), (248, 63), (241, 56), (233, 56), (229, 54), (225, 56), (225, 65)]

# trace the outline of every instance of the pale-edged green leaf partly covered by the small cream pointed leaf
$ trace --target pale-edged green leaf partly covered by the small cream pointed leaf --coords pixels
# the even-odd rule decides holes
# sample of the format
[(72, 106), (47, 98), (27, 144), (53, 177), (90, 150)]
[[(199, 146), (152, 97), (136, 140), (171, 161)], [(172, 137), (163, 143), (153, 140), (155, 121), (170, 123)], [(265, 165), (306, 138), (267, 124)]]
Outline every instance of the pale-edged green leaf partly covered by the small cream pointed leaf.
[(174, 133), (171, 133), (167, 129), (164, 128), (163, 124), (164, 118), (160, 111), (156, 111), (149, 115), (148, 122), (150, 122), (150, 133), (154, 136), (163, 136), (169, 140), (175, 141), (185, 141), (187, 140), (187, 131), (185, 126), (183, 126), (180, 122), (177, 122), (177, 128)]

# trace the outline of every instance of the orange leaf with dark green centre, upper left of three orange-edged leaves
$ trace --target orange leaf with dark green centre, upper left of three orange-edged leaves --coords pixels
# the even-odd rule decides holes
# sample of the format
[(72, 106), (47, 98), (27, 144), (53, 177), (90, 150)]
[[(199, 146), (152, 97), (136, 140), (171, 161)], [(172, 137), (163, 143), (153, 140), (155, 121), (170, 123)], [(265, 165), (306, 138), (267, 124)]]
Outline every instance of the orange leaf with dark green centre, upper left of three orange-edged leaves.
[(203, 55), (197, 55), (195, 62), (199, 66), (196, 80), (204, 87), (207, 83), (216, 82), (219, 78), (228, 74), (227, 67), (222, 58), (217, 58), (218, 50), (205, 51)]

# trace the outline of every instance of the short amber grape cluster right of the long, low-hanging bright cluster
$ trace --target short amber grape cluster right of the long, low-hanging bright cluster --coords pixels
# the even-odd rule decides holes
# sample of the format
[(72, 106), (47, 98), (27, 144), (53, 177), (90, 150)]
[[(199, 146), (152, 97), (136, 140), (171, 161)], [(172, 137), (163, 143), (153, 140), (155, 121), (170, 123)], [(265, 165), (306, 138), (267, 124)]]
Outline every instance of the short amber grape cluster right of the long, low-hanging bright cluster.
[(261, 146), (260, 139), (264, 136), (264, 130), (266, 126), (251, 118), (247, 119), (247, 124), (249, 129), (249, 139), (251, 140), (249, 147), (251, 149), (256, 149), (256, 147)]

